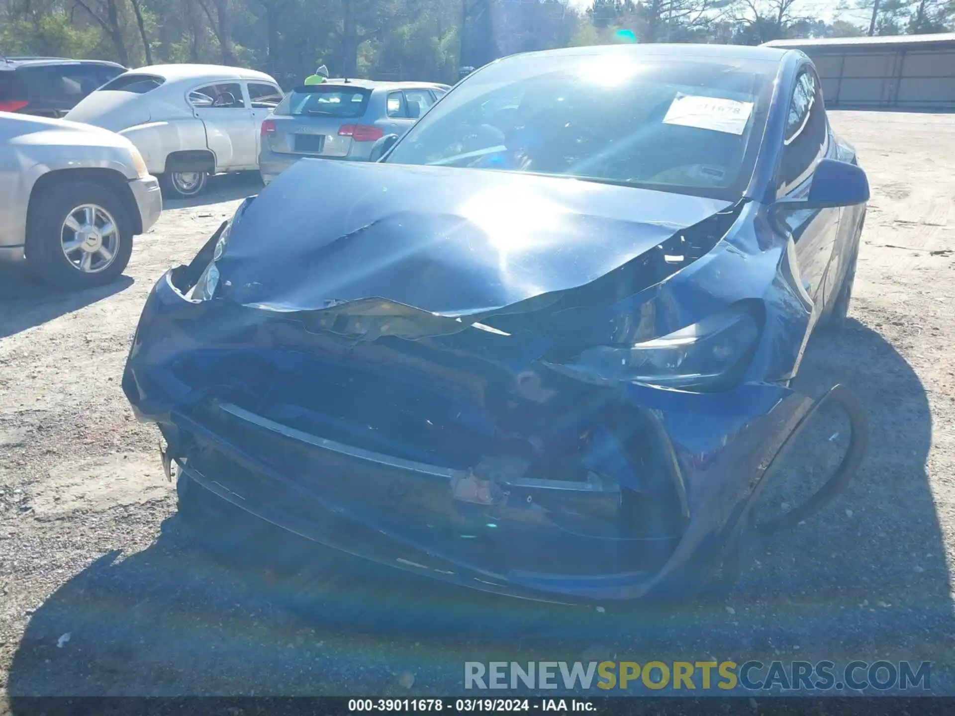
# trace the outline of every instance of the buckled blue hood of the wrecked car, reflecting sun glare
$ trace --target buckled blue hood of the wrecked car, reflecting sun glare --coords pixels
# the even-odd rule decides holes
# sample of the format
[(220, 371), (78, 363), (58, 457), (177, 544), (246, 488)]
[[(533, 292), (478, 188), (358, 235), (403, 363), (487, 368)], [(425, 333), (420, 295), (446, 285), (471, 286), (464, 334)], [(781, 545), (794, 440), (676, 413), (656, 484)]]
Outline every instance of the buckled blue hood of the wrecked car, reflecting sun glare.
[(221, 295), (470, 315), (588, 284), (730, 202), (575, 179), (306, 159), (232, 228)]

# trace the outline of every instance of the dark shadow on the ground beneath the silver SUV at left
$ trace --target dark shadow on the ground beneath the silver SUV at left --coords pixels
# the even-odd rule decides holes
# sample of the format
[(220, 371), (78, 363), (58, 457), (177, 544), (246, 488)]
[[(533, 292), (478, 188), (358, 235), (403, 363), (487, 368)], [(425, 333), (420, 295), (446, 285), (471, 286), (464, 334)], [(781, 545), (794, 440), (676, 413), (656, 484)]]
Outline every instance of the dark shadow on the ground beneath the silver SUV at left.
[(95, 304), (133, 285), (129, 276), (82, 291), (59, 291), (20, 266), (0, 266), (0, 339)]

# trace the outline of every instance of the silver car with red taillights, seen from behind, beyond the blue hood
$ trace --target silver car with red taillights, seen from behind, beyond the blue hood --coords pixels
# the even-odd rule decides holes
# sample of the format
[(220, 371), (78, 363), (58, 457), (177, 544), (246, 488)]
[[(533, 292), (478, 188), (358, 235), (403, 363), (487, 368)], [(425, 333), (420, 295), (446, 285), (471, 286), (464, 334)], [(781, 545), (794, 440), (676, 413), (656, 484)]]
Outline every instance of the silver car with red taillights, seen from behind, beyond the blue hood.
[(362, 79), (296, 87), (262, 123), (262, 179), (267, 184), (306, 157), (368, 161), (376, 140), (403, 135), (448, 89)]

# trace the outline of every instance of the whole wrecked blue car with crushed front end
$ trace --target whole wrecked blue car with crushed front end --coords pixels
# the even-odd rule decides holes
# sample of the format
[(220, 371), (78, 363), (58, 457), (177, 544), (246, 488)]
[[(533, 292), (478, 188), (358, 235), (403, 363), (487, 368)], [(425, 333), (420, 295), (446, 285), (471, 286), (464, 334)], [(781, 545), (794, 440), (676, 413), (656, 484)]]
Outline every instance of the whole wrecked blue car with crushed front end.
[[(507, 57), (375, 161), (307, 159), (145, 305), (123, 377), (180, 509), (531, 599), (692, 592), (845, 484), (790, 387), (869, 199), (802, 53)], [(838, 470), (759, 525), (823, 402)], [(192, 514), (190, 512), (190, 514)]]

